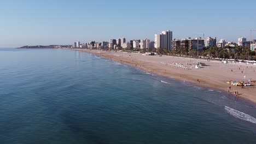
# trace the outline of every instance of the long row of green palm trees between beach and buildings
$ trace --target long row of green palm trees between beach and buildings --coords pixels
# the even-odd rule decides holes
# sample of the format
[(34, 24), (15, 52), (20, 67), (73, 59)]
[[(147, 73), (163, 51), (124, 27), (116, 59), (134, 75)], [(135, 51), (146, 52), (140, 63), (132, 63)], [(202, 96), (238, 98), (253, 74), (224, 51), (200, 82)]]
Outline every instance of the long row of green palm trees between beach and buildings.
[(255, 51), (250, 49), (244, 49), (241, 46), (230, 47), (206, 47), (203, 50), (189, 50), (183, 49), (181, 47), (176, 47), (176, 49), (152, 49), (149, 52), (158, 52), (161, 55), (173, 55), (173, 56), (189, 56), (189, 57), (205, 57), (205, 58), (224, 58), (224, 59), (242, 59), (249, 61), (256, 61)]

